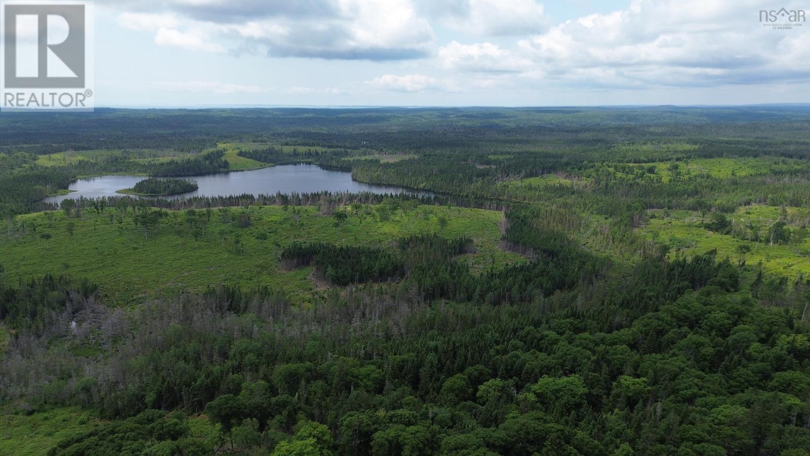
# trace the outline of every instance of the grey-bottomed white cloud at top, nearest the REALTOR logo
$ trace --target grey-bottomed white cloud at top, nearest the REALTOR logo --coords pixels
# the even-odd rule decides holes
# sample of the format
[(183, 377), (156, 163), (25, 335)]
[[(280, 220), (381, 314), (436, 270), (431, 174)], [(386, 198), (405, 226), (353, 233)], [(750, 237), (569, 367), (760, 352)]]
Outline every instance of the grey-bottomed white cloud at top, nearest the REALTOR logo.
[(424, 57), (433, 46), (433, 28), (411, 0), (289, 3), (175, 0), (165, 5), (169, 13), (127, 11), (119, 23), (155, 32), (160, 44), (277, 57), (400, 60)]

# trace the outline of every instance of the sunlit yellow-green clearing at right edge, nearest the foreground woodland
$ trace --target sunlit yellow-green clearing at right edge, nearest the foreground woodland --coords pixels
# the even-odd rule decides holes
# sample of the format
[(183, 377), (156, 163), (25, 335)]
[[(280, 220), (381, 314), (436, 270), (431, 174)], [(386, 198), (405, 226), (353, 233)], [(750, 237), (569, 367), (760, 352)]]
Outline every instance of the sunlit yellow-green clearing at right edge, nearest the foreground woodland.
[[(736, 219), (759, 220), (763, 226), (770, 226), (778, 219), (781, 210), (767, 206), (750, 206), (740, 208), (733, 215)], [(791, 208), (789, 213), (802, 214), (803, 209)], [(670, 256), (679, 253), (693, 255), (717, 249), (718, 258), (740, 259), (736, 247), (740, 244), (751, 246), (751, 252), (745, 255), (748, 265), (762, 261), (766, 272), (797, 277), (800, 273), (810, 275), (810, 239), (799, 244), (770, 245), (766, 243), (747, 242), (728, 234), (718, 234), (701, 226), (701, 214), (691, 211), (651, 211), (655, 217), (644, 226), (640, 233), (659, 243), (667, 243), (672, 249)]]

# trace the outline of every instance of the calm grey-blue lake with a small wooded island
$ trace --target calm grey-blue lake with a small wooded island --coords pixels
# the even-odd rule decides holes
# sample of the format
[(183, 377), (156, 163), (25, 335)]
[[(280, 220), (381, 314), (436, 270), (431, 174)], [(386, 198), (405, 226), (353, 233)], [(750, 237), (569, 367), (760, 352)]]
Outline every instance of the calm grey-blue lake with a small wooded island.
[[(131, 188), (144, 176), (109, 175), (89, 179), (79, 179), (70, 184), (68, 195), (50, 196), (45, 201), (58, 203), (66, 198), (97, 198), (99, 196), (121, 196), (116, 193), (123, 188)], [(161, 196), (173, 200), (191, 196), (226, 196), (250, 193), (253, 195), (275, 195), (281, 193), (313, 193), (315, 191), (349, 191), (360, 193), (407, 193), (409, 195), (430, 195), (426, 191), (411, 191), (402, 187), (376, 185), (352, 180), (346, 171), (325, 170), (318, 165), (280, 165), (261, 170), (237, 171), (222, 174), (190, 176), (197, 181), (198, 189), (180, 195)]]

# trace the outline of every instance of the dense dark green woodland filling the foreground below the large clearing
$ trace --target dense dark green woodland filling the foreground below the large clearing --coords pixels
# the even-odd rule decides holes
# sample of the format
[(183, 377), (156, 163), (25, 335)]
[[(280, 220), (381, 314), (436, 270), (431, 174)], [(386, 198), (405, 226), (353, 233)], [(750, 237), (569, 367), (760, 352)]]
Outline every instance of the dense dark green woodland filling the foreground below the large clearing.
[[(561, 269), (582, 268), (561, 254), (564, 237), (532, 244), (521, 226), (509, 238), (543, 248)], [(2, 294), (0, 315), (19, 331), (2, 387), (33, 407), (79, 404), (115, 418), (60, 443), (65, 454), (184, 447), (184, 414), (202, 411), (221, 425), (224, 448), (277, 454), (288, 445), (312, 454), (801, 454), (810, 444), (806, 331), (790, 308), (739, 293), (739, 270), (711, 253), (649, 258), (627, 276), (592, 259), (586, 267), (602, 273), (548, 287), (485, 275), (466, 303), (433, 297), (458, 287), (441, 275), (446, 264), (420, 265), (432, 270), (317, 308), (216, 287), (160, 299), (132, 319), (100, 303), (91, 284), (21, 283)], [(117, 348), (87, 359), (45, 335)]]

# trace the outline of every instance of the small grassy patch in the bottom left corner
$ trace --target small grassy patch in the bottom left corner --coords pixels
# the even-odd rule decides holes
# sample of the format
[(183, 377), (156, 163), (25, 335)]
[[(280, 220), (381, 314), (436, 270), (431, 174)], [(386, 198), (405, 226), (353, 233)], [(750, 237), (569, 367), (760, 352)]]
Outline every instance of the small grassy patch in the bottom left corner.
[(92, 429), (98, 420), (79, 407), (62, 407), (32, 415), (0, 415), (0, 454), (42, 456), (75, 433)]

